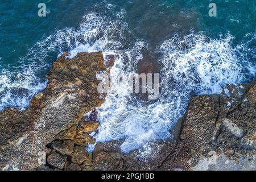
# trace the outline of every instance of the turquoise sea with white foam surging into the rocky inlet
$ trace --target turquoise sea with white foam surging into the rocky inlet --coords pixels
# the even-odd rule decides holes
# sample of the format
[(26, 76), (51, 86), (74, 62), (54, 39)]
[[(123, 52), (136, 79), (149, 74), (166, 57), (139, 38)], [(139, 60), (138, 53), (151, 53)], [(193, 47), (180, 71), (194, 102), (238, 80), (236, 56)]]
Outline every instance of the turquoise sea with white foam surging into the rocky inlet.
[[(45, 3), (46, 17), (38, 16)], [(217, 17), (208, 5), (217, 5)], [(112, 75), (153, 64), (160, 96), (145, 102), (113, 87), (99, 108), (98, 141), (129, 152), (168, 131), (195, 94), (255, 76), (256, 1), (133, 0), (0, 2), (0, 109), (26, 107), (64, 51), (119, 55)]]

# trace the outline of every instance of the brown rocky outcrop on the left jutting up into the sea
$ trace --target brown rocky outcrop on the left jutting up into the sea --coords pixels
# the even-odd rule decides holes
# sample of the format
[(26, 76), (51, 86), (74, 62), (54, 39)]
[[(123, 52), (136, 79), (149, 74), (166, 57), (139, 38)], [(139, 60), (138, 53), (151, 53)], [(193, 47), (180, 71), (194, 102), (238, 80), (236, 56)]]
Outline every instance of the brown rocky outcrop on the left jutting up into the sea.
[[(32, 98), (25, 111), (10, 108), (0, 112), (1, 169), (31, 170), (40, 165), (44, 170), (64, 169), (69, 156), (78, 155), (78, 146), (95, 142), (89, 133), (97, 130), (98, 123), (83, 123), (83, 116), (104, 102), (96, 78), (107, 70), (102, 52), (78, 53), (73, 59), (67, 56), (64, 53), (53, 63), (47, 88)], [(97, 111), (92, 113), (89, 120), (95, 120)], [(53, 147), (47, 148), (52, 141)]]

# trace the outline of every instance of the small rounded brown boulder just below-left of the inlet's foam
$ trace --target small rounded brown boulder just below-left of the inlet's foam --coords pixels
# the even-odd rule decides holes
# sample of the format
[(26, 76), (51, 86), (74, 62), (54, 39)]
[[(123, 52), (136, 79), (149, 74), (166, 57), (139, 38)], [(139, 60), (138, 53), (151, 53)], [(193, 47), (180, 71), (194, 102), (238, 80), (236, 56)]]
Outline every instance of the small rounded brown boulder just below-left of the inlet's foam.
[(73, 163), (81, 165), (85, 160), (89, 160), (89, 156), (84, 147), (75, 146), (71, 154), (71, 160)]

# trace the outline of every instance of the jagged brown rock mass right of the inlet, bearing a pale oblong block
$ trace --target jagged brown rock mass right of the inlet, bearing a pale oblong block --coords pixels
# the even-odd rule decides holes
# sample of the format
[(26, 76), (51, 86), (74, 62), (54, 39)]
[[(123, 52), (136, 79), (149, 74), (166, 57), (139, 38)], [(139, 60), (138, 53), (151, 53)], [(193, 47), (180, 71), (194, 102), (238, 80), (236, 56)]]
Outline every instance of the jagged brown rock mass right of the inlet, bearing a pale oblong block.
[(255, 81), (240, 99), (193, 98), (183, 119), (181, 140), (159, 168), (256, 170)]

